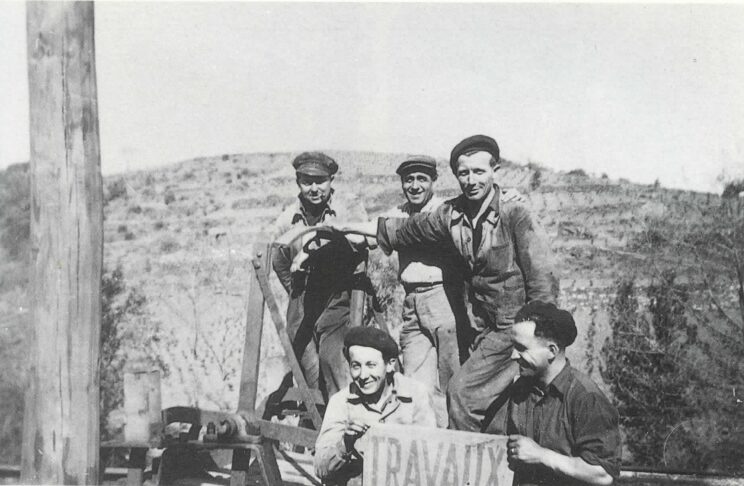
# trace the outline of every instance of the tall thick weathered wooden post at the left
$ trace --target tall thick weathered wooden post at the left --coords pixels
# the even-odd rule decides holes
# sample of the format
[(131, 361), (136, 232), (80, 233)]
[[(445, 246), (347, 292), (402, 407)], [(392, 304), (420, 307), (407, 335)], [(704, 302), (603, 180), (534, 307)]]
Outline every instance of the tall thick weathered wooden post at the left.
[(103, 193), (93, 4), (26, 9), (34, 339), (21, 481), (96, 484)]

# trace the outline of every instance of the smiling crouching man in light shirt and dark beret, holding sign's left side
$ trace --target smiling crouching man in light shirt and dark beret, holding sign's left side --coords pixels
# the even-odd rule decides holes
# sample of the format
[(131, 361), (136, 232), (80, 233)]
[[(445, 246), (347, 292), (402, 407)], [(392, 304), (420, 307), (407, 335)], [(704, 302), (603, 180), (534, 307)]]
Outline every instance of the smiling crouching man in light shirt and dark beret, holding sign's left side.
[(398, 346), (374, 327), (344, 339), (351, 384), (328, 401), (315, 443), (315, 472), (324, 484), (361, 485), (365, 433), (377, 423), (435, 427), (430, 388), (395, 371)]

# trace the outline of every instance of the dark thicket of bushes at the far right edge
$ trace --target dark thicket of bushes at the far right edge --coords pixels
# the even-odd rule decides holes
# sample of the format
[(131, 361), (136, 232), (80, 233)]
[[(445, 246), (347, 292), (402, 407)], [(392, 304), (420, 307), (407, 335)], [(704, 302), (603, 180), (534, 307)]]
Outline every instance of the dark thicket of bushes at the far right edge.
[(635, 464), (744, 474), (744, 215), (701, 212), (649, 223), (637, 250), (674, 271), (619, 286), (603, 376)]

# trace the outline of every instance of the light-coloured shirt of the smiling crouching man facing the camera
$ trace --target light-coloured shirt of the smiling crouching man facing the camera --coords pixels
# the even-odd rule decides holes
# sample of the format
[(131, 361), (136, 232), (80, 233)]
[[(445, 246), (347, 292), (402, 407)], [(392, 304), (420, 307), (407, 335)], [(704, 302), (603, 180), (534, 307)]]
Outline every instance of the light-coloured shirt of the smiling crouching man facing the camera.
[[(365, 436), (357, 439), (351, 457), (346, 454), (344, 431), (350, 420), (369, 425), (376, 423), (421, 425), (436, 427), (436, 415), (431, 391), (425, 385), (395, 372), (392, 393), (381, 407), (362, 401), (355, 383), (331, 397), (326, 407), (323, 425), (315, 442), (315, 472), (330, 484), (361, 484), (358, 476), (362, 471), (362, 460), (367, 446)], [(347, 458), (348, 457), (348, 458)]]

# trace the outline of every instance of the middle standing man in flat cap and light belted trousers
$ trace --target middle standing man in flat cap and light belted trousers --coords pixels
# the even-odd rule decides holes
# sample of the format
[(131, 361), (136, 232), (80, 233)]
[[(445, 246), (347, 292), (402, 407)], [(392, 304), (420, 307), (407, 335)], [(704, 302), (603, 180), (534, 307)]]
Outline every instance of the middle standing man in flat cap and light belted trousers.
[[(444, 203), (434, 194), (438, 174), (432, 157), (409, 157), (396, 173), (406, 202), (384, 216), (408, 218), (429, 213)], [(441, 426), (447, 425), (444, 391), (460, 368), (457, 324), (467, 322), (458, 265), (457, 252), (451, 245), (402, 248), (398, 252), (398, 279), (406, 293), (400, 330), (403, 374), (435, 390)]]

